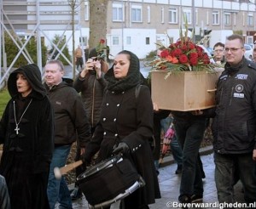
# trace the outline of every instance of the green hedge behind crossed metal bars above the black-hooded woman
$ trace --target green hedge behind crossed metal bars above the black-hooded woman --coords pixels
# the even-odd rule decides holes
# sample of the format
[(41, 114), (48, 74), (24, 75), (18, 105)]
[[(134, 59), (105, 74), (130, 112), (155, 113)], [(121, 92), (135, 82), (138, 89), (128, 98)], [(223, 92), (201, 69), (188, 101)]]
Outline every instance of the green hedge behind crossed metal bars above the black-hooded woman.
[[(12, 33), (12, 37), (15, 37), (14, 33)], [(9, 37), (8, 33), (4, 33), (5, 38), (5, 51), (7, 57), (7, 65), (11, 65), (13, 60), (15, 59), (16, 54), (20, 52), (20, 49), (15, 45), (15, 42)], [(15, 37), (15, 41), (19, 44), (20, 48), (22, 48), (21, 43), (18, 41), (18, 37)], [(26, 40), (22, 39), (22, 43), (25, 43)], [(42, 63), (46, 63), (46, 52), (47, 48), (44, 46), (43, 40), (41, 41), (42, 45)], [(30, 54), (32, 58), (32, 62), (38, 64), (38, 55), (37, 55), (37, 40), (35, 37), (31, 37), (29, 42), (26, 44), (26, 50), (28, 54)], [(19, 58), (15, 61), (14, 67), (20, 67), (21, 65), (27, 65), (27, 60), (25, 59), (23, 54), (20, 54)]]

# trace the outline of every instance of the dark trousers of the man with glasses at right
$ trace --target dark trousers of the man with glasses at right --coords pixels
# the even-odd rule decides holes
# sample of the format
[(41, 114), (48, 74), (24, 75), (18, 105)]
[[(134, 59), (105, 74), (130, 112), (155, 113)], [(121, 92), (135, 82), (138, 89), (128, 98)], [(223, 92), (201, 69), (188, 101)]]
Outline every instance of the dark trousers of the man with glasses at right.
[[(256, 177), (253, 153), (244, 155), (221, 155), (214, 153), (215, 183), (218, 192), (218, 201), (233, 203), (234, 174), (237, 172), (243, 185), (244, 199), (247, 203), (256, 201)], [(237, 169), (237, 170), (236, 170)]]

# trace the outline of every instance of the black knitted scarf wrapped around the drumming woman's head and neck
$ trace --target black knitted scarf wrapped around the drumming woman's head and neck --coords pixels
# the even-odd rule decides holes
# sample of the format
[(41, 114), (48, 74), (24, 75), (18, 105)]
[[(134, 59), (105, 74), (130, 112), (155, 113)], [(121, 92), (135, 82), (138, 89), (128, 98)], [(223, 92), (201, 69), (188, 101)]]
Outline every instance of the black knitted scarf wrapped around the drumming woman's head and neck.
[(140, 61), (137, 58), (137, 55), (126, 50), (119, 52), (119, 54), (127, 54), (130, 56), (130, 66), (127, 76), (122, 79), (116, 79), (114, 77), (113, 66), (106, 73), (105, 79), (108, 82), (107, 89), (109, 91), (114, 91), (115, 93), (120, 93), (136, 87), (137, 84), (141, 83)]

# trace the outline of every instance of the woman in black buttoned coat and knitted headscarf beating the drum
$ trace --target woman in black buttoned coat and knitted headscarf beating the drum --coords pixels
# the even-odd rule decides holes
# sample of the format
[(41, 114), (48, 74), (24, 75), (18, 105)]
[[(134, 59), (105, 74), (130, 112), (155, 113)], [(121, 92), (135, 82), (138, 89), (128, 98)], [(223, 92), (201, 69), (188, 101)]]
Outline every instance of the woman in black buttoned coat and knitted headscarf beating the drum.
[(101, 119), (86, 147), (84, 161), (90, 161), (98, 150), (98, 161), (122, 151), (146, 182), (122, 201), (122, 208), (148, 208), (148, 204), (160, 198), (160, 189), (148, 143), (154, 124), (149, 88), (141, 86), (136, 96), (137, 85), (141, 83), (139, 59), (129, 51), (120, 52), (105, 79), (108, 90), (102, 102)]

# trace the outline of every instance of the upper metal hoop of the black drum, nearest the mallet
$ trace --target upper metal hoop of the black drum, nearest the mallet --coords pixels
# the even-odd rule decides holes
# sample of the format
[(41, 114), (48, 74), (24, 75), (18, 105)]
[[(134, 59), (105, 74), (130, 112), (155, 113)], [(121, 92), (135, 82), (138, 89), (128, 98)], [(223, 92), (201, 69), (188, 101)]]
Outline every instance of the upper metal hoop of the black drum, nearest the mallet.
[(105, 161), (101, 161), (98, 164), (96, 164), (93, 167), (90, 167), (88, 170), (85, 172), (81, 173), (77, 177), (77, 181), (83, 179), (83, 178), (88, 178), (92, 175), (94, 175), (96, 172), (102, 171), (103, 169), (107, 167), (113, 166), (114, 163), (117, 163), (119, 161), (123, 161), (122, 155), (114, 155), (113, 157), (110, 157), (106, 159)]

